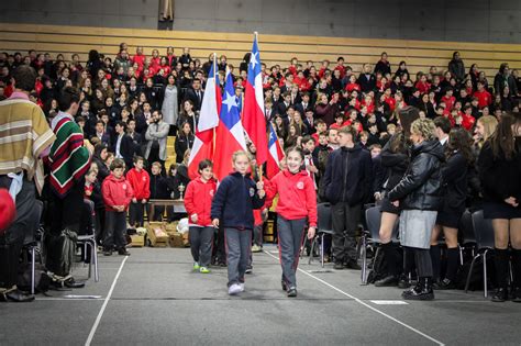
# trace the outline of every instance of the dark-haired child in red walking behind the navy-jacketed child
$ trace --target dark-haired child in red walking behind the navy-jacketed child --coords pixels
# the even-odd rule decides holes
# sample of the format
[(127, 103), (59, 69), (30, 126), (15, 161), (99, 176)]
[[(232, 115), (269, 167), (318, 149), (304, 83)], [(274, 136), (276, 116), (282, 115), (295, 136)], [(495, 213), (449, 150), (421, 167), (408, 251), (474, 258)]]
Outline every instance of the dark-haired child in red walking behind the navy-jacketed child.
[(190, 222), (190, 249), (193, 257), (193, 270), (210, 272), (208, 266), (212, 258), (213, 233), (210, 216), (212, 199), (215, 193), (213, 164), (209, 159), (199, 163), (199, 177), (190, 181), (185, 194), (185, 208)]

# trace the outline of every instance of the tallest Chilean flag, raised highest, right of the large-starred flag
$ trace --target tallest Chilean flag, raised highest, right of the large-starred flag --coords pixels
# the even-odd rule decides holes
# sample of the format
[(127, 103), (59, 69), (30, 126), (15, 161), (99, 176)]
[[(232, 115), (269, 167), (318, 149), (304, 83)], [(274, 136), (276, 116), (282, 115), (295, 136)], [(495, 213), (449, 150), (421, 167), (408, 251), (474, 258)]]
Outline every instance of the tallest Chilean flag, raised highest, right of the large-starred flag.
[(257, 148), (257, 164), (263, 165), (268, 158), (268, 141), (266, 136), (266, 119), (264, 116), (263, 75), (256, 33), (253, 41), (252, 56), (247, 65), (243, 123), (250, 139)]

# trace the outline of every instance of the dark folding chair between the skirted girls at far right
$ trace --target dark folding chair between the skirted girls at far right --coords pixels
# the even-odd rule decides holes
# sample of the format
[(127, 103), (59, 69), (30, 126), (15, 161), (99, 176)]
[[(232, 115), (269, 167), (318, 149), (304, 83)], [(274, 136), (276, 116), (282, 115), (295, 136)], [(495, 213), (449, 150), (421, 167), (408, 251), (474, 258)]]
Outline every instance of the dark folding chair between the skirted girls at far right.
[(477, 254), (474, 256), (473, 261), (470, 263), (470, 269), (468, 270), (467, 281), (465, 283), (465, 293), (468, 291), (468, 284), (470, 283), (470, 275), (473, 272), (474, 264), (476, 259), (483, 257), (483, 293), (484, 297), (487, 298), (487, 254), (494, 249), (492, 221), (490, 219), (484, 219), (483, 210), (480, 210), (473, 214), (473, 226), (476, 236)]

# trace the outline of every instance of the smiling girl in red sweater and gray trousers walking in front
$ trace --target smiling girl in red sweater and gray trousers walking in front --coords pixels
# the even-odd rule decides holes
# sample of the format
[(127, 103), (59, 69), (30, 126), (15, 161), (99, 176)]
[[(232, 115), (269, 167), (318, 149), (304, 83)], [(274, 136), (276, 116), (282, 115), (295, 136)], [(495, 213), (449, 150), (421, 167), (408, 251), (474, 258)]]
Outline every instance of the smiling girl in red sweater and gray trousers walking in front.
[(277, 204), (277, 230), (282, 267), (282, 290), (288, 297), (297, 297), (297, 266), (309, 225), (308, 238), (314, 237), (317, 227), (317, 192), (306, 170), (301, 170), (304, 155), (301, 148), (286, 153), (288, 168), (277, 174), (266, 188), (268, 199), (279, 196)]

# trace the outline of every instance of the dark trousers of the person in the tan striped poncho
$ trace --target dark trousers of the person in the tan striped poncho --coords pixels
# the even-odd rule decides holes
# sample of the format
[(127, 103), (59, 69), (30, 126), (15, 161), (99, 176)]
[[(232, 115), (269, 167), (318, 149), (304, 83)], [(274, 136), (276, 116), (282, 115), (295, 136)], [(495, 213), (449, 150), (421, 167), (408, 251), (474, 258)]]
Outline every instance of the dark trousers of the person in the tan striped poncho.
[[(0, 187), (9, 189), (11, 178), (0, 177)], [(11, 289), (16, 284), (20, 253), (27, 232), (34, 232), (40, 216), (35, 213), (36, 190), (33, 181), (23, 180), (22, 190), (16, 194), (16, 217), (0, 235), (0, 288)]]

